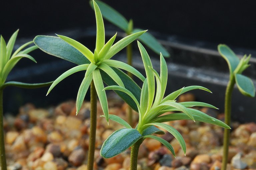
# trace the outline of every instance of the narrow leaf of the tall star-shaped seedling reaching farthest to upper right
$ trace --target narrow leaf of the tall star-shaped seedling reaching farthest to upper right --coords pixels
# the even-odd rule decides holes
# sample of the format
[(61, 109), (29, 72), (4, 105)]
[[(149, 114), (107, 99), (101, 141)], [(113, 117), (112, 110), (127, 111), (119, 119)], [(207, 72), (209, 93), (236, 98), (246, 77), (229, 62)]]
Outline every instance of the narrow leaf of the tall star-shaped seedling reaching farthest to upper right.
[(121, 51), (124, 47), (126, 47), (128, 44), (136, 40), (138, 37), (140, 37), (142, 34), (144, 34), (146, 31), (141, 31), (138, 33), (131, 34), (120, 41), (116, 42), (108, 51), (107, 55), (105, 56), (105, 59), (110, 59), (113, 57), (116, 53)]

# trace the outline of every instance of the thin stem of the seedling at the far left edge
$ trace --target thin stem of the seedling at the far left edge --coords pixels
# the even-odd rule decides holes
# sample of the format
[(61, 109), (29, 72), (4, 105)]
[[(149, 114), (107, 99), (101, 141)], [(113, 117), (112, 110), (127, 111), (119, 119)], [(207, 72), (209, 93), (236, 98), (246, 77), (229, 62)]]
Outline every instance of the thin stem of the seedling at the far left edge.
[(3, 89), (0, 87), (0, 167), (6, 170), (6, 157), (4, 147), (4, 113), (3, 113)]

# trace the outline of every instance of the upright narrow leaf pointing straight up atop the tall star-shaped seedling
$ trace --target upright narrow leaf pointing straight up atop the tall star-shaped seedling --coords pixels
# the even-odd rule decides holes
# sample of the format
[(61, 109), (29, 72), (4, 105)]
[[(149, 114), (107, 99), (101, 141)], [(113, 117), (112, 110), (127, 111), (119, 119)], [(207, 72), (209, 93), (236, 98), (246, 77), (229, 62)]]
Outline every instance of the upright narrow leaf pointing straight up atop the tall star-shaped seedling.
[(99, 53), (105, 44), (105, 29), (104, 29), (103, 18), (102, 18), (99, 6), (95, 1), (93, 1), (93, 6), (95, 11), (96, 27), (97, 27), (96, 51)]

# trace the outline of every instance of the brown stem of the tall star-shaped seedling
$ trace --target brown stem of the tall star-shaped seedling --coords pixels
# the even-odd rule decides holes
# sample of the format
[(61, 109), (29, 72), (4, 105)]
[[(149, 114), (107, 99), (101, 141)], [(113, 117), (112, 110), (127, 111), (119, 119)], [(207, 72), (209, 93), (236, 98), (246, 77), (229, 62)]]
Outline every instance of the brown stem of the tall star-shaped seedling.
[(88, 170), (93, 170), (94, 164), (94, 151), (95, 151), (95, 138), (96, 138), (96, 125), (97, 125), (97, 92), (94, 82), (91, 82), (91, 125), (90, 125), (90, 141), (88, 153)]

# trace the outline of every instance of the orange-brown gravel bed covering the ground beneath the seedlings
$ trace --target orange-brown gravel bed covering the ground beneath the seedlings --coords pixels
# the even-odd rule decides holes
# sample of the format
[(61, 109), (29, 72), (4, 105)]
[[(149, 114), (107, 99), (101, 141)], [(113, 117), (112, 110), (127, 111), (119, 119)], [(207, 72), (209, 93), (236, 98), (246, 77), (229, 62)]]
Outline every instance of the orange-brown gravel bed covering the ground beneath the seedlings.
[[(184, 94), (179, 102), (193, 101)], [(109, 114), (127, 120), (127, 104), (116, 95), (109, 95)], [(198, 108), (212, 117), (223, 120), (218, 110)], [(113, 158), (100, 156), (104, 140), (115, 130), (123, 128), (110, 120), (109, 126), (98, 103), (94, 169), (129, 170), (130, 150)], [(134, 125), (138, 114), (134, 113)], [(139, 150), (138, 170), (218, 170), (222, 161), (223, 128), (193, 121), (174, 121), (187, 146), (184, 155), (177, 140), (169, 133), (158, 135), (173, 146), (176, 159), (160, 142), (147, 138)], [(256, 124), (232, 122), (228, 170), (256, 169)], [(9, 170), (86, 170), (90, 131), (90, 103), (85, 102), (78, 116), (74, 101), (48, 109), (33, 104), (21, 107), (16, 117), (4, 120), (6, 156)], [(0, 168), (1, 169), (1, 168)]]

